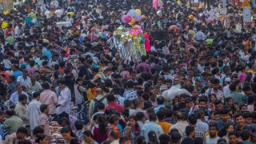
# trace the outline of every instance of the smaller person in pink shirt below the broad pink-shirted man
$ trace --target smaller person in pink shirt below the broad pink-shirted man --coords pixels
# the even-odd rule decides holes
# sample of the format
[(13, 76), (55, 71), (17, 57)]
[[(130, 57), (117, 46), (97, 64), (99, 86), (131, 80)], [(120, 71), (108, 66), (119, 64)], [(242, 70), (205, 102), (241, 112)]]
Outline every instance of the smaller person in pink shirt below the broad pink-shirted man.
[(38, 117), (38, 125), (42, 126), (44, 134), (50, 135), (50, 122), (49, 117), (47, 116), (47, 114), (49, 113), (49, 108), (47, 105), (42, 104), (40, 106), (40, 110), (42, 114)]

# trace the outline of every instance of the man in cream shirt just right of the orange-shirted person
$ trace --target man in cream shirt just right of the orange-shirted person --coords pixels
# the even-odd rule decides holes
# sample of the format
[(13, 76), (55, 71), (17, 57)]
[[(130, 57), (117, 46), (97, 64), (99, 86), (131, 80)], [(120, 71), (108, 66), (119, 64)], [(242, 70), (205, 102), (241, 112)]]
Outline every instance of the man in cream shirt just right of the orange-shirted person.
[(186, 126), (189, 125), (188, 122), (184, 120), (185, 119), (184, 112), (178, 111), (176, 114), (176, 119), (177, 119), (177, 123), (174, 124), (173, 126), (170, 126), (170, 130), (177, 129), (179, 134), (183, 134), (186, 129)]

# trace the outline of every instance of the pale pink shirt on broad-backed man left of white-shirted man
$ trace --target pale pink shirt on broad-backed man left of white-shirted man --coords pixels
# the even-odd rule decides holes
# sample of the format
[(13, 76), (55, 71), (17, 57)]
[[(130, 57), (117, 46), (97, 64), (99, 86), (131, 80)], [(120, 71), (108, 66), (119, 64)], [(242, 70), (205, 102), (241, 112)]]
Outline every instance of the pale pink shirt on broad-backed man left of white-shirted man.
[(49, 114), (56, 114), (56, 105), (58, 104), (58, 98), (54, 91), (43, 90), (40, 94), (39, 102), (48, 105)]

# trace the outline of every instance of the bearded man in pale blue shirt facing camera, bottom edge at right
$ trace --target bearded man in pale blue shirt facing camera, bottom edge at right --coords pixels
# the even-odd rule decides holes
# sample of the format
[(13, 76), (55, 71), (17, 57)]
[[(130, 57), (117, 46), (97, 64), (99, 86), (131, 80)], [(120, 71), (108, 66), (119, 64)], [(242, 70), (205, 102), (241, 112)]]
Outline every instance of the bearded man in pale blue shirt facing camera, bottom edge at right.
[(206, 143), (218, 143), (218, 135), (217, 135), (217, 123), (210, 122), (209, 124), (209, 136), (206, 137)]

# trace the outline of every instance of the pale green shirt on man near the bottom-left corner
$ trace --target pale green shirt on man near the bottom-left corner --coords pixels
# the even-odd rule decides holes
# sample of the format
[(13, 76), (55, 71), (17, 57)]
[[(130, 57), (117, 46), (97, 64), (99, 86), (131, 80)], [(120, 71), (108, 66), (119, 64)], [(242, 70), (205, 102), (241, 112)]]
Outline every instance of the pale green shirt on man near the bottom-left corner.
[(21, 118), (13, 115), (10, 118), (7, 118), (2, 124), (2, 129), (7, 130), (9, 134), (16, 133), (18, 128), (23, 126), (23, 121)]

